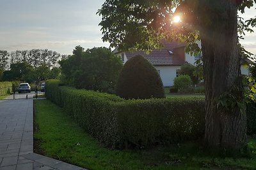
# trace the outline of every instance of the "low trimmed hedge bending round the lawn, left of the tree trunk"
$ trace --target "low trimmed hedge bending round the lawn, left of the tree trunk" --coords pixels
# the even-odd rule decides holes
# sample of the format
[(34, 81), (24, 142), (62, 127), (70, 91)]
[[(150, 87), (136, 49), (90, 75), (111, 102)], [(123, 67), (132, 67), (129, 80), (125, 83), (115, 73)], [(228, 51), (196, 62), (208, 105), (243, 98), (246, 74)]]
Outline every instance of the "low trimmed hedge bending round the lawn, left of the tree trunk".
[(74, 120), (110, 147), (147, 147), (204, 134), (204, 99), (124, 100), (111, 94), (46, 83), (47, 99), (63, 107)]

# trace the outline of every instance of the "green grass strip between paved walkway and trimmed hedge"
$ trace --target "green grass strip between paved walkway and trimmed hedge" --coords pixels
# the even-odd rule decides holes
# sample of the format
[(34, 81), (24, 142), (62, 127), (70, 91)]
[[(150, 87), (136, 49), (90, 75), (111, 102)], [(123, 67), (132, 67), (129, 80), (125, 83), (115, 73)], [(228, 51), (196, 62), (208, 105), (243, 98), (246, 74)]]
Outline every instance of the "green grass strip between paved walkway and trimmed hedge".
[(35, 152), (87, 169), (255, 169), (254, 151), (246, 157), (209, 155), (196, 143), (180, 143), (148, 150), (111, 150), (86, 134), (61, 108), (35, 101)]

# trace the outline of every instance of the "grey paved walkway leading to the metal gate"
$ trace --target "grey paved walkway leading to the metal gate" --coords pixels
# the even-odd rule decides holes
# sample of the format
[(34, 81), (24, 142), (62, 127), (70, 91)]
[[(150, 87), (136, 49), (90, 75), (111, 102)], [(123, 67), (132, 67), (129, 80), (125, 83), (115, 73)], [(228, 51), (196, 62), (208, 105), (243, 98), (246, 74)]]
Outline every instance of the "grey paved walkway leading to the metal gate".
[(33, 99), (0, 101), (0, 170), (83, 169), (33, 153)]

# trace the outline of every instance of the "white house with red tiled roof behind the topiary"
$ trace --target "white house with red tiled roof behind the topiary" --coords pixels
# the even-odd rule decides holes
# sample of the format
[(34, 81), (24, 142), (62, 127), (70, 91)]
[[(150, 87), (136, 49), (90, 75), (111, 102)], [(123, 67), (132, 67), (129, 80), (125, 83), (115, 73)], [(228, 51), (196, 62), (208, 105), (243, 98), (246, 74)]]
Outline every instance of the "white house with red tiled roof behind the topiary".
[(160, 74), (164, 87), (173, 85), (173, 80), (180, 70), (180, 66), (185, 62), (195, 64), (195, 57), (185, 53), (185, 44), (169, 43), (162, 41), (163, 48), (161, 50), (152, 50), (150, 53), (139, 52), (120, 52), (116, 48), (113, 52), (120, 57), (125, 63), (136, 55), (142, 55), (147, 59)]

